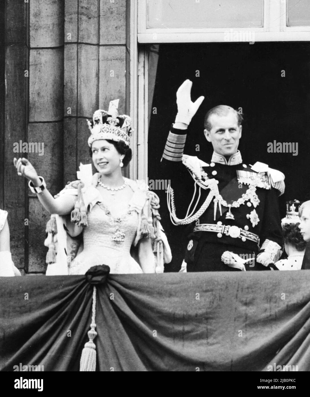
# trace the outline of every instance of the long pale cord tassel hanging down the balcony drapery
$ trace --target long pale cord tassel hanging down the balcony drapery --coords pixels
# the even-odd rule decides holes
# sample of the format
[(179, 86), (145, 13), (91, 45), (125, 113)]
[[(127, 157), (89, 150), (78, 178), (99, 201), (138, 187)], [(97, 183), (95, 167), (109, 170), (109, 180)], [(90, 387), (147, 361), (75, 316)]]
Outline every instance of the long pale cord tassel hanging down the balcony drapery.
[(93, 289), (93, 304), (92, 304), (92, 323), (90, 324), (90, 330), (87, 335), (89, 341), (85, 343), (84, 349), (82, 350), (82, 356), (80, 360), (80, 371), (96, 371), (96, 345), (94, 339), (97, 336), (96, 328), (96, 287)]

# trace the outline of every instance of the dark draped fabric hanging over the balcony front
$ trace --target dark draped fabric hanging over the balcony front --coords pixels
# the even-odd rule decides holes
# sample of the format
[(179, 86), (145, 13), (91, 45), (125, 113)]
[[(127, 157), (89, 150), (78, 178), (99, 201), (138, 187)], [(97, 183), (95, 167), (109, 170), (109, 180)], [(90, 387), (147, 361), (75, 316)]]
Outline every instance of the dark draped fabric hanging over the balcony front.
[[(309, 286), (307, 270), (109, 275), (96, 370), (309, 371)], [(85, 276), (0, 278), (0, 369), (78, 371), (92, 291)]]

